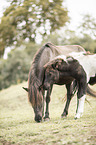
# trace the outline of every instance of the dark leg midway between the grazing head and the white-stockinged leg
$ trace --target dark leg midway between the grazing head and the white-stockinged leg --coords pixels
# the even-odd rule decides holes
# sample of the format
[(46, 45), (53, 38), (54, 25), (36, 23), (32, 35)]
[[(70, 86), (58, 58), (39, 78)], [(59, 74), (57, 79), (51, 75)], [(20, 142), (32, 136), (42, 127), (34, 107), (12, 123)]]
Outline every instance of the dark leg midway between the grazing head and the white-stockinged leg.
[(67, 101), (66, 101), (64, 111), (61, 115), (62, 118), (66, 117), (68, 115), (69, 104), (73, 97), (73, 86), (71, 83), (66, 85), (66, 89), (67, 89)]

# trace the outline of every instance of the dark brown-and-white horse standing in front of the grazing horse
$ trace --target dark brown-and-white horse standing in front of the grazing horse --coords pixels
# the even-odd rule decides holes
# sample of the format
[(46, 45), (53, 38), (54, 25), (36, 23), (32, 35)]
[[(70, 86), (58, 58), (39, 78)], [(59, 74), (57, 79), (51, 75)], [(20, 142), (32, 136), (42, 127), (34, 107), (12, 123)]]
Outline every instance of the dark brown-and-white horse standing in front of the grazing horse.
[[(87, 84), (96, 83), (96, 55), (94, 54), (88, 56), (80, 53), (75, 54), (76, 56), (74, 56), (74, 58), (60, 55), (56, 57), (56, 59), (45, 64), (43, 67), (44, 79), (41, 88), (43, 87), (45, 90), (48, 90), (53, 84), (66, 84), (67, 102), (62, 113), (62, 117), (65, 117), (68, 115), (68, 108), (72, 99), (72, 96), (70, 95), (71, 84), (75, 79), (75, 82), (77, 81), (78, 84), (78, 103), (75, 115), (75, 119), (77, 119), (80, 118), (83, 114)], [(47, 111), (49, 113), (49, 110)]]

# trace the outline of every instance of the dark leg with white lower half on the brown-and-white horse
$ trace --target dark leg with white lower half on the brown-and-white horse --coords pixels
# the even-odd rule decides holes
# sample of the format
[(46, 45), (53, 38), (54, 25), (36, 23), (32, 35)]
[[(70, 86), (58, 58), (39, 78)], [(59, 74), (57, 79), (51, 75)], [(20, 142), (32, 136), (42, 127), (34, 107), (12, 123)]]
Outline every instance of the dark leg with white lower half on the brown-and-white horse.
[(75, 119), (80, 118), (83, 115), (84, 111), (84, 101), (86, 97), (86, 90), (87, 90), (87, 83), (84, 81), (84, 78), (80, 80), (79, 84), (79, 89), (77, 93), (77, 109), (76, 109), (76, 115)]

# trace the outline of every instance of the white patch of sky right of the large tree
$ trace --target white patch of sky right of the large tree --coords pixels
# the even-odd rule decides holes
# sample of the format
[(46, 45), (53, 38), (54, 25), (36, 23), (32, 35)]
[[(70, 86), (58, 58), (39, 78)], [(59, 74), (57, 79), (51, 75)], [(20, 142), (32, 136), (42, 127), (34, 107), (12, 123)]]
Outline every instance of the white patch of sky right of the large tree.
[(65, 0), (65, 4), (71, 18), (71, 29), (79, 26), (84, 14), (89, 14), (96, 18), (96, 0)]

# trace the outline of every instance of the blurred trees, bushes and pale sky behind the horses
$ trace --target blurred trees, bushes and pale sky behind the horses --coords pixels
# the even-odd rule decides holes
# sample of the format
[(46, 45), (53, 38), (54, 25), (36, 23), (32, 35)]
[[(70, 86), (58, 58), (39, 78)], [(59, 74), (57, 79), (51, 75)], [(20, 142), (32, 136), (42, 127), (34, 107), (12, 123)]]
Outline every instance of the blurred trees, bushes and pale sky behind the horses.
[(96, 53), (96, 0), (0, 1), (0, 90), (27, 81), (46, 42)]

